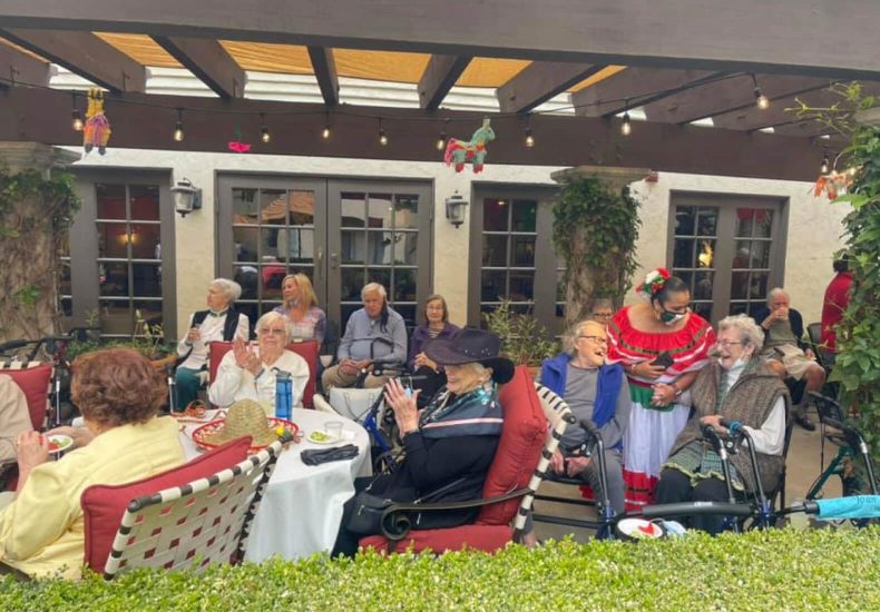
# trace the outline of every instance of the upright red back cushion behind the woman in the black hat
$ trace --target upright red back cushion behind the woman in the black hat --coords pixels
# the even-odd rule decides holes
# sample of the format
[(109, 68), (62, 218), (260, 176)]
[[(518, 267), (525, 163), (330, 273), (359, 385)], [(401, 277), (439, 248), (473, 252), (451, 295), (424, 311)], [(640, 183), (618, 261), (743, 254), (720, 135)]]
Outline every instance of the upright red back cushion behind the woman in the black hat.
[[(528, 485), (538, 466), (547, 435), (547, 418), (526, 366), (518, 366), (514, 378), (501, 387), (499, 401), (505, 411), (505, 425), (482, 487), (483, 499)], [(507, 525), (514, 519), (519, 503), (520, 500), (508, 500), (483, 506), (477, 524)]]

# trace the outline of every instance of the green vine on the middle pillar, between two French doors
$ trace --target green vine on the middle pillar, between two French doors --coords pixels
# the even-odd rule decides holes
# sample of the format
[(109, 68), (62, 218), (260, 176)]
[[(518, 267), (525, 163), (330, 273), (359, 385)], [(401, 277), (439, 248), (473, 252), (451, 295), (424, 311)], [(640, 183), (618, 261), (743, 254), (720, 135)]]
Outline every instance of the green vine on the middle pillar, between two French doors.
[(594, 299), (623, 304), (636, 269), (638, 206), (629, 187), (615, 193), (598, 177), (566, 182), (553, 226), (556, 253), (566, 266), (566, 325), (586, 318)]

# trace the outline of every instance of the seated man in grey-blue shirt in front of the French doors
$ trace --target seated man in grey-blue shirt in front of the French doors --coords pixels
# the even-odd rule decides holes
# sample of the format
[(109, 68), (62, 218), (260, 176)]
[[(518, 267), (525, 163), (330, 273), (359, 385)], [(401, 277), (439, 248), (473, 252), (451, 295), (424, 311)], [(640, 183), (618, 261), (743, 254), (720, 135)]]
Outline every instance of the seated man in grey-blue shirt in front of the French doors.
[[(407, 326), (403, 317), (388, 306), (388, 294), (379, 283), (370, 283), (361, 289), (363, 308), (355, 310), (345, 325), (340, 339), (336, 358), (339, 363), (329, 367), (321, 376), (324, 391), (331, 387), (350, 387), (358, 382), (361, 371), (373, 361), (407, 361)], [(381, 387), (387, 376), (366, 376), (365, 387)]]

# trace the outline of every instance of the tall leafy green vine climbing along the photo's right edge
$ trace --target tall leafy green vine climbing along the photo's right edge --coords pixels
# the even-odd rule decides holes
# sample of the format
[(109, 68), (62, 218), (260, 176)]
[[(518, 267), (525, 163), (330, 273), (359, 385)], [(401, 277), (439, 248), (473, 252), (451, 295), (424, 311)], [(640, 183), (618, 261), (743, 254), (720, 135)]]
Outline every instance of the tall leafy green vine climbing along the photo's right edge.
[(859, 121), (859, 113), (876, 106), (863, 96), (860, 83), (831, 88), (840, 101), (828, 108), (801, 103), (800, 118), (814, 118), (847, 137), (850, 145), (835, 159), (850, 177), (844, 194), (833, 204), (845, 203), (852, 211), (847, 228), (849, 269), (853, 285), (850, 304), (838, 327), (838, 357), (831, 381), (842, 385), (844, 404), (854, 409), (855, 426), (880, 455), (880, 129)]

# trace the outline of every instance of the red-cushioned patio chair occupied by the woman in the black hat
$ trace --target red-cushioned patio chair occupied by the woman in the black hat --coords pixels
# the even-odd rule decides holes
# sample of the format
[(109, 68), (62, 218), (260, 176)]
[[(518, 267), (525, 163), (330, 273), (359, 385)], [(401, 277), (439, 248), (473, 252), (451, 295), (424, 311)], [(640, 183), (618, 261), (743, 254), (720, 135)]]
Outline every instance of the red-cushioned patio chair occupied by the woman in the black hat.
[[(539, 393), (536, 393), (536, 389)], [(544, 393), (547, 391), (547, 393)], [(501, 388), (505, 424), (482, 499), (452, 504), (395, 504), (383, 521), (383, 535), (361, 540), (362, 547), (389, 552), (463, 547), (495, 552), (519, 539), (549, 460), (570, 418), (568, 405), (532, 382), (525, 366)], [(410, 516), (420, 512), (480, 507), (476, 523), (449, 529), (410, 530)]]

